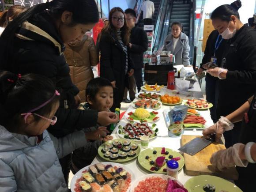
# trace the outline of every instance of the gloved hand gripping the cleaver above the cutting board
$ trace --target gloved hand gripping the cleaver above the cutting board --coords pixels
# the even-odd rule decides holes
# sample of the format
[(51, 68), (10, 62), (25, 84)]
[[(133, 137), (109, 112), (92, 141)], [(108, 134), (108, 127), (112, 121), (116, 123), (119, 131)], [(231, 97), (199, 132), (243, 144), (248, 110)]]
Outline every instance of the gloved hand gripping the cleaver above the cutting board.
[(219, 139), (222, 137), (224, 131), (230, 131), (231, 129), (233, 129), (233, 127), (234, 124), (230, 120), (228, 120), (226, 117), (221, 116), (216, 124), (203, 130), (203, 136), (209, 139), (210, 135), (212, 133), (215, 133), (216, 142), (219, 142)]

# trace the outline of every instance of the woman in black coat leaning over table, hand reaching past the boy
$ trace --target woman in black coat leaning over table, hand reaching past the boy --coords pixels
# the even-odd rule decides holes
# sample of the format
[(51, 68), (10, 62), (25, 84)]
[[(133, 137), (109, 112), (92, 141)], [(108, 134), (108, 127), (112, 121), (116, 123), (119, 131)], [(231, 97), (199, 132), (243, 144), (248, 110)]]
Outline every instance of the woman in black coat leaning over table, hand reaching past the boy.
[(95, 126), (97, 121), (101, 125), (116, 121), (110, 112), (76, 109), (79, 90), (71, 81), (63, 55), (64, 43), (81, 39), (97, 22), (94, 0), (53, 0), (21, 13), (0, 37), (0, 70), (45, 75), (61, 90), (58, 121), (49, 128), (56, 137)]

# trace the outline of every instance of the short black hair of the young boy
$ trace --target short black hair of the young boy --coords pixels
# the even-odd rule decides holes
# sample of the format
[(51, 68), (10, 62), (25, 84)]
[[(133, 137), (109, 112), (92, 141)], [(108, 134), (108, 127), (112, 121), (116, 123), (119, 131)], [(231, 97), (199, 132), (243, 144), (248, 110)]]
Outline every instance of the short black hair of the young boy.
[(86, 87), (86, 96), (85, 98), (87, 99), (87, 96), (90, 97), (90, 99), (94, 100), (96, 97), (96, 94), (102, 87), (113, 87), (112, 84), (108, 79), (105, 79), (103, 77), (97, 77), (95, 79), (91, 79)]

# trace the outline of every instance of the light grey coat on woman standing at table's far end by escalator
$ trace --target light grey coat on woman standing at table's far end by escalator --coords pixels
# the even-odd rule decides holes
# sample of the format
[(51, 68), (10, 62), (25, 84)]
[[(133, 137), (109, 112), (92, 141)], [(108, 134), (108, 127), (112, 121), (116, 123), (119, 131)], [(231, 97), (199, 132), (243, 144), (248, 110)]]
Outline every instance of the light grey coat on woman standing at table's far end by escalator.
[(173, 34), (169, 34), (165, 39), (165, 45), (163, 50), (171, 51), (171, 53), (175, 56), (175, 64), (180, 65), (184, 64), (187, 66), (190, 64), (189, 62), (189, 44), (188, 44), (188, 36), (181, 32), (181, 36), (177, 42), (175, 50), (173, 50)]

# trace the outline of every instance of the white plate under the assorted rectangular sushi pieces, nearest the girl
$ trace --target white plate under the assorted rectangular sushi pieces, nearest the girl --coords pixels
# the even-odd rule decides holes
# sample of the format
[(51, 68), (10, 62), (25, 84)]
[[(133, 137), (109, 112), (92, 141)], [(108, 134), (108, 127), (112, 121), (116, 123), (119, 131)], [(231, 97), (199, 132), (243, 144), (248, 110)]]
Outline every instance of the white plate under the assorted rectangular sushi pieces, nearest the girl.
[[(122, 165), (122, 164), (120, 164), (120, 163), (114, 163), (114, 162), (101, 162), (101, 163), (102, 163), (103, 165), (109, 165), (109, 164), (111, 164), (112, 166), (122, 167), (123, 169), (127, 170), (128, 173), (131, 174), (131, 176), (132, 176), (132, 182), (135, 181), (135, 174), (132, 172), (132, 169), (128, 168), (127, 166)], [(95, 164), (91, 164), (91, 165), (95, 165)], [(91, 165), (89, 165), (89, 166), (91, 166)], [(71, 189), (72, 192), (75, 192), (74, 189), (75, 189), (76, 180), (82, 177), (82, 172), (83, 172), (84, 170), (86, 170), (86, 169), (89, 169), (89, 166), (86, 166), (86, 167), (84, 167), (83, 169), (80, 169), (80, 170), (79, 170), (77, 173), (75, 173), (75, 175), (73, 176), (73, 178), (72, 178), (72, 180), (71, 180), (71, 183), (70, 183), (70, 189)], [(132, 184), (132, 182), (131, 182), (131, 184)], [(129, 188), (127, 189), (127, 192), (130, 191), (130, 188), (131, 188), (131, 187), (129, 187)]]

